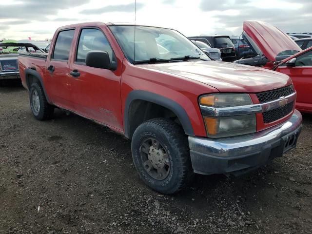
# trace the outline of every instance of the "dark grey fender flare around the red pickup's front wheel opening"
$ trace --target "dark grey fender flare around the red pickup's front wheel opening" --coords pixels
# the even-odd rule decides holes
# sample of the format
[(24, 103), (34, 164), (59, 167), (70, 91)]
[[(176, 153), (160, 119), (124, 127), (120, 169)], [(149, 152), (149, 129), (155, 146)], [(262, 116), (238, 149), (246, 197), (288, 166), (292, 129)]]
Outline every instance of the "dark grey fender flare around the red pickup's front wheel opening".
[(176, 114), (176, 116), (180, 120), (185, 134), (189, 136), (195, 136), (190, 118), (188, 117), (184, 108), (180, 104), (178, 104), (176, 101), (169, 99), (169, 98), (165, 98), (155, 93), (148, 92), (148, 91), (133, 90), (128, 94), (128, 97), (126, 99), (126, 104), (125, 104), (125, 111), (124, 111), (124, 126), (125, 126), (124, 135), (125, 137), (129, 139), (132, 138), (131, 128), (129, 124), (129, 109), (130, 109), (131, 103), (134, 100), (143, 100), (143, 101), (153, 102), (155, 104), (158, 104), (160, 106), (163, 106), (171, 110), (173, 113)]

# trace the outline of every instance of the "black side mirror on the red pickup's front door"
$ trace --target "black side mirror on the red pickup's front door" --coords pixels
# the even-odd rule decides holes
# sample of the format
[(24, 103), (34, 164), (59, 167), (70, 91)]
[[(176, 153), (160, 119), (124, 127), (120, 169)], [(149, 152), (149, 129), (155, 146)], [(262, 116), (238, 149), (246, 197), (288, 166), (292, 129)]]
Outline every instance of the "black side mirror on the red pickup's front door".
[(113, 71), (117, 69), (117, 62), (111, 61), (106, 51), (89, 51), (86, 55), (86, 65), (89, 67), (109, 69)]

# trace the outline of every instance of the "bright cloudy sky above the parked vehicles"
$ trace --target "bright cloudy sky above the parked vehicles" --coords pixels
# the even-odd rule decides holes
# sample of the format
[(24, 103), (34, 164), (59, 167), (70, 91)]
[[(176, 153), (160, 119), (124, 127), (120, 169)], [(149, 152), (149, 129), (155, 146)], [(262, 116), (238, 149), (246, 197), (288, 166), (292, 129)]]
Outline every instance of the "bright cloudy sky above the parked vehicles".
[(312, 32), (312, 0), (1, 0), (0, 39), (51, 39), (64, 25), (135, 22), (175, 28), (185, 36), (239, 36), (244, 20), (286, 33)]

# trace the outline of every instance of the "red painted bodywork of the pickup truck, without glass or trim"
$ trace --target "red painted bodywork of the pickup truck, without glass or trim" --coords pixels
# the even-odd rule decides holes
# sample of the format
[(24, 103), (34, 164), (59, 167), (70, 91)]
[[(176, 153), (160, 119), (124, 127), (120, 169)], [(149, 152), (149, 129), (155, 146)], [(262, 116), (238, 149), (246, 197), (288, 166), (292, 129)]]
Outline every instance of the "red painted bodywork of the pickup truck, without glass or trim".
[[(81, 28), (84, 27), (98, 28), (105, 34), (117, 58), (116, 71), (92, 68), (75, 62), (78, 37)], [(67, 62), (51, 59), (56, 37), (59, 31), (64, 29), (75, 29)], [(93, 119), (119, 133), (125, 131), (126, 100), (134, 90), (151, 92), (175, 101), (187, 113), (194, 135), (207, 137), (198, 104), (200, 95), (216, 92), (250, 93), (254, 103), (257, 103), (253, 93), (281, 88), (292, 83), (288, 76), (275, 71), (226, 62), (190, 61), (133, 65), (125, 59), (109, 26), (100, 22), (59, 28), (53, 37), (46, 61), (20, 57), (19, 64), (25, 87), (27, 84), (24, 70), (35, 67), (42, 78), (51, 104)], [(47, 70), (50, 65), (55, 67), (53, 74)], [(72, 70), (78, 70), (80, 76), (72, 77)], [(277, 122), (284, 121), (285, 118)], [(258, 131), (268, 127), (261, 123), (259, 117), (257, 120)]]

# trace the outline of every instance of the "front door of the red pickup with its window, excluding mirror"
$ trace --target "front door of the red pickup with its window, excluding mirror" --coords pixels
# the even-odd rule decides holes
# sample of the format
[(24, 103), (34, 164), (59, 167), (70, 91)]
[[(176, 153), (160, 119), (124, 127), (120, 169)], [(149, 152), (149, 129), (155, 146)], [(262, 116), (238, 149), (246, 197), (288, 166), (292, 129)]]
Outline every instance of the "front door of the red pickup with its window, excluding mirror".
[[(121, 71), (86, 66), (89, 51), (106, 51), (116, 61), (114, 51), (100, 28), (81, 28), (75, 58), (70, 71), (75, 109), (79, 115), (105, 125), (122, 129), (120, 79)], [(121, 69), (121, 64), (118, 64)]]

